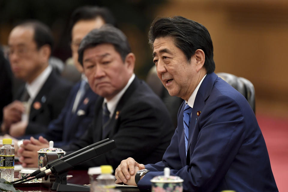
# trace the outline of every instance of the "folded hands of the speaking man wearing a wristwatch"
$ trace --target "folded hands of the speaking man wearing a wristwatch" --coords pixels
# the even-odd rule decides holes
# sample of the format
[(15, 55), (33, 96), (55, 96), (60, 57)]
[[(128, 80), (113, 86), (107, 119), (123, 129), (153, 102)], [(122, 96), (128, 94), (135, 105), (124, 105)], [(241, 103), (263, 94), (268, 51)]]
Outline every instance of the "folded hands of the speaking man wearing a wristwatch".
[(145, 169), (145, 166), (137, 163), (133, 158), (129, 157), (128, 159), (122, 160), (115, 170), (116, 183), (123, 182), (125, 184), (137, 186), (135, 183), (135, 174), (140, 169)]

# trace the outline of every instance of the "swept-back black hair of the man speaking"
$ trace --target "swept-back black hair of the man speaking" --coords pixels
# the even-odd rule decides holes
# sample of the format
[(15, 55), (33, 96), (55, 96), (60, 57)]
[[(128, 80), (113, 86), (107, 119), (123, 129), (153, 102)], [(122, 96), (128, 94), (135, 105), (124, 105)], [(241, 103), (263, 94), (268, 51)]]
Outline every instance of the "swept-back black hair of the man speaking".
[(183, 51), (187, 62), (190, 62), (197, 49), (202, 49), (205, 53), (204, 67), (207, 73), (214, 72), (213, 44), (203, 25), (181, 16), (154, 20), (149, 31), (149, 44), (153, 45), (156, 38), (166, 36), (174, 39), (174, 44)]

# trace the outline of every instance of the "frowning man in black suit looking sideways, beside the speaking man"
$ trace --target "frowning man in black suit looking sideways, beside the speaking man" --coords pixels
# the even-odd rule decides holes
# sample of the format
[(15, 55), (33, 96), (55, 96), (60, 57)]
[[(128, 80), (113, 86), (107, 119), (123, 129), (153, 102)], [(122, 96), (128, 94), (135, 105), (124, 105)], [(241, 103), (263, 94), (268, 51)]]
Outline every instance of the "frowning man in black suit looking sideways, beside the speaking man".
[(63, 150), (70, 153), (110, 138), (116, 149), (80, 167), (108, 164), (115, 169), (130, 156), (147, 163), (161, 160), (173, 124), (161, 99), (134, 75), (135, 56), (127, 37), (112, 26), (93, 29), (81, 41), (78, 53), (91, 89), (101, 97), (92, 125), (78, 142)]

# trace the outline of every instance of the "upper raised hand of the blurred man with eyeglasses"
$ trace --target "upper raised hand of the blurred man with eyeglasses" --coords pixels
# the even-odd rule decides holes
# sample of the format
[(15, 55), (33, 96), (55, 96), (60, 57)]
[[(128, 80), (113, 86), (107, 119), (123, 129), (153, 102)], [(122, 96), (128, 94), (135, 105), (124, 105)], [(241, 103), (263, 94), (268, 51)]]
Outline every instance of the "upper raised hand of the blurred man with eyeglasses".
[(22, 118), (25, 107), (20, 101), (13, 101), (3, 108), (3, 123), (1, 125), (2, 133), (6, 133), (12, 123), (17, 123)]

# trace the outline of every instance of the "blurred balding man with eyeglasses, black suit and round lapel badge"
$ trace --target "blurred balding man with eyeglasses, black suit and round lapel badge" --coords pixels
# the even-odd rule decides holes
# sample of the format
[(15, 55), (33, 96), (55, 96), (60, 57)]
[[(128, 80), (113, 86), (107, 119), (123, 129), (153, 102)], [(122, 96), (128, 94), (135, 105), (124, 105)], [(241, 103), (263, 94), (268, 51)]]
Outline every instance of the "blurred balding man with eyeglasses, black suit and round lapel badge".
[(71, 85), (49, 66), (53, 38), (49, 28), (39, 21), (24, 22), (10, 32), (9, 60), (16, 78), (26, 84), (15, 100), (4, 107), (1, 133), (20, 137), (43, 133), (58, 117)]

